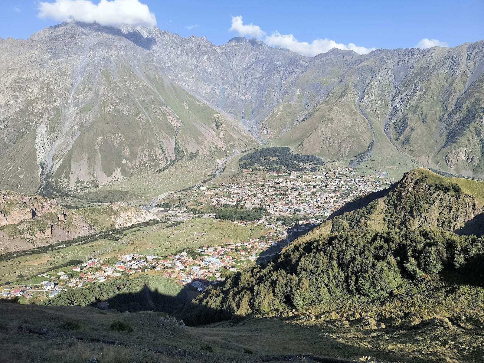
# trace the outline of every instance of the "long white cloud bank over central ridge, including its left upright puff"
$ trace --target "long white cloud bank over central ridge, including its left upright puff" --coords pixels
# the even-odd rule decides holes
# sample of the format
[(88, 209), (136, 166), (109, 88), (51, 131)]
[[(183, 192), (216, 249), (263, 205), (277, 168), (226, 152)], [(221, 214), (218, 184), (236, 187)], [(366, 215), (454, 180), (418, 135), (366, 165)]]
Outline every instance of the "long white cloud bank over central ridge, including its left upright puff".
[(273, 31), (271, 35), (267, 35), (258, 25), (243, 24), (242, 16), (232, 16), (232, 27), (229, 31), (236, 31), (241, 36), (256, 37), (264, 41), (267, 45), (286, 48), (308, 57), (326, 53), (332, 48), (354, 50), (359, 54), (366, 54), (375, 50), (375, 48), (365, 48), (364, 46), (357, 46), (353, 43), (349, 43), (348, 45), (336, 43), (330, 39), (315, 39), (311, 43), (299, 42), (294, 35), (281, 34), (278, 31)]

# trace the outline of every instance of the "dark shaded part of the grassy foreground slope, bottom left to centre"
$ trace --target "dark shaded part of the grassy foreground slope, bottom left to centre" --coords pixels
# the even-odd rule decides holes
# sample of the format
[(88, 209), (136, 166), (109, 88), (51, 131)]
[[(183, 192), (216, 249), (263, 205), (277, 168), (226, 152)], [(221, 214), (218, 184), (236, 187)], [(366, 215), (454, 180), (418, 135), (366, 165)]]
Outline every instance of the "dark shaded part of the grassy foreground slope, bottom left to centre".
[[(341, 341), (341, 337), (333, 338), (328, 334), (323, 334), (328, 329), (334, 332), (334, 326), (338, 326), (338, 320), (328, 321), (325, 325), (320, 326), (318, 324), (302, 325), (300, 324), (300, 317), (232, 319), (200, 327), (196, 330), (177, 330), (177, 333), (175, 333), (173, 329), (174, 335), (181, 340), (175, 340), (172, 344), (169, 344), (166, 340), (157, 339), (157, 334), (164, 331), (158, 328), (159, 323), (163, 325), (162, 316), (157, 318), (152, 314), (147, 316), (151, 318), (153, 324), (146, 324), (144, 318), (147, 316), (140, 316), (139, 318), (137, 316), (132, 318), (110, 316), (106, 319), (107, 322), (99, 324), (98, 320), (104, 320), (104, 316), (93, 313), (91, 309), (75, 309), (75, 312), (73, 312), (73, 309), (67, 306), (52, 307), (1, 303), (0, 314), (4, 320), (15, 324), (15, 328), (10, 331), (0, 329), (0, 340), (3, 348), (3, 350), (0, 349), (0, 357), (7, 357), (6, 354), (9, 352), (9, 359), (0, 359), (1, 362), (25, 362), (26, 345), (29, 347), (31, 345), (33, 347), (42, 346), (42, 348), (47, 345), (49, 347), (45, 350), (45, 354), (40, 354), (40, 357), (45, 357), (44, 359), (39, 359), (39, 351), (34, 348), (30, 349), (28, 351), (29, 361), (58, 362), (53, 358), (59, 357), (56, 356), (59, 351), (56, 343), (59, 341), (64, 354), (66, 349), (84, 344), (83, 342), (87, 344), (83, 347), (89, 347), (92, 342), (96, 343), (96, 350), (103, 350), (103, 346), (111, 345), (125, 346), (128, 349), (136, 347), (147, 352), (152, 351), (177, 357), (178, 360), (182, 359), (183, 362), (282, 363), (293, 361), (351, 363), (355, 362), (352, 360), (355, 357), (362, 356), (377, 356), (379, 360), (385, 362), (428, 362), (428, 360), (415, 357), (415, 354), (410, 355), (402, 350), (394, 352), (382, 348), (376, 350), (375, 348), (363, 347), (358, 341), (353, 341), (348, 333), (346, 333), (346, 342)], [(66, 334), (65, 328), (61, 328), (61, 326), (72, 323), (73, 320), (82, 322), (81, 325), (84, 330), (79, 333), (70, 331)], [(107, 328), (113, 320), (128, 323), (135, 333), (127, 335), (100, 329), (100, 326), (103, 325)], [(138, 321), (139, 323), (137, 323)], [(172, 319), (170, 321), (173, 323)], [(358, 321), (351, 323), (351, 325), (353, 324), (358, 324)], [(153, 329), (155, 326), (157, 327), (156, 330)], [(48, 328), (48, 333), (44, 333), (43, 328)], [(168, 326), (168, 329), (172, 329), (172, 327)], [(345, 334), (347, 330), (342, 330), (342, 334)], [(373, 332), (374, 330), (365, 329), (366, 334)], [(261, 342), (263, 342), (263, 345), (261, 345)], [(386, 342), (388, 343), (388, 340)], [(364, 344), (367, 343), (364, 342)], [(200, 346), (210, 346), (216, 351), (207, 354), (200, 351)], [(258, 347), (261, 346), (263, 350), (258, 350)], [(251, 350), (254, 354), (246, 355), (246, 350)], [(52, 355), (49, 354), (51, 352)], [(109, 352), (114, 353), (115, 351), (109, 350)], [(11, 360), (12, 353), (18, 359)], [(165, 358), (164, 356), (160, 357)], [(52, 360), (47, 360), (48, 358), (52, 358)], [(165, 359), (162, 359), (162, 361), (165, 362)], [(124, 360), (122, 356), (118, 355), (117, 362), (128, 362), (128, 359)]]

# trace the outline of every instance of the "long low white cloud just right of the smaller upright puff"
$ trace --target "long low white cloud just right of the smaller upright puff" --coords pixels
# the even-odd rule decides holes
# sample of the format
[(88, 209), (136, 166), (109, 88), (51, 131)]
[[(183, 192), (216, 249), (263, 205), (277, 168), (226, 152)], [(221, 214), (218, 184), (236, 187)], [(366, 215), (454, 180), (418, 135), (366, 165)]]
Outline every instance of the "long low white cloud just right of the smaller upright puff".
[(328, 50), (333, 48), (354, 50), (359, 54), (366, 54), (375, 50), (375, 48), (365, 48), (364, 46), (356, 46), (353, 43), (348, 45), (342, 43), (336, 43), (334, 40), (330, 39), (315, 39), (311, 43), (299, 42), (294, 35), (281, 34), (278, 31), (274, 31), (271, 35), (264, 39), (267, 45), (279, 46), (281, 48), (286, 48), (292, 50), (293, 52), (299, 53), (303, 56), (314, 57), (320, 53), (326, 53)]

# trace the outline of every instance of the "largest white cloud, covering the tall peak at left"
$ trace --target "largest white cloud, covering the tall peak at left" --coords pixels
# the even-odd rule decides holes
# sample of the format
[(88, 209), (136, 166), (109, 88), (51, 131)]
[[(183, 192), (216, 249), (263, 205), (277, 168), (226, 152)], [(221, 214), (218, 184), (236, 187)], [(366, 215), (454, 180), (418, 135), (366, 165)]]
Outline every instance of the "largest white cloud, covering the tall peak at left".
[(155, 15), (150, 12), (148, 5), (142, 4), (139, 0), (101, 0), (98, 4), (94, 4), (91, 0), (41, 1), (37, 16), (41, 19), (76, 20), (113, 27), (156, 26)]

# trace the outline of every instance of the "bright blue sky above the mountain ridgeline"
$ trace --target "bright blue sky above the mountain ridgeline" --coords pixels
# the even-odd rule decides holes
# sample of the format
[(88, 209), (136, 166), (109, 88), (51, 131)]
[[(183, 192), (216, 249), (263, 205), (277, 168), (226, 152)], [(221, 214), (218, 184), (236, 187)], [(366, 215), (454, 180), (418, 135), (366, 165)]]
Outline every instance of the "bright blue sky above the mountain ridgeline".
[[(2, 0), (0, 37), (26, 39), (35, 31), (60, 23), (59, 18), (52, 18), (56, 17), (52, 14), (55, 9), (50, 9), (43, 19), (38, 17), (43, 2), (55, 1), (90, 0)], [(429, 43), (424, 42), (421, 47), (455, 46), (484, 39), (483, 0), (109, 1), (146, 4), (160, 29), (184, 37), (205, 36), (212, 43), (221, 44), (236, 35), (255, 35), (270, 45), (292, 47), (291, 50), (307, 55), (326, 51), (334, 43), (364, 53), (372, 48), (412, 47), (425, 38)], [(92, 3), (97, 5), (99, 0)], [(314, 43), (318, 39), (326, 43)]]

